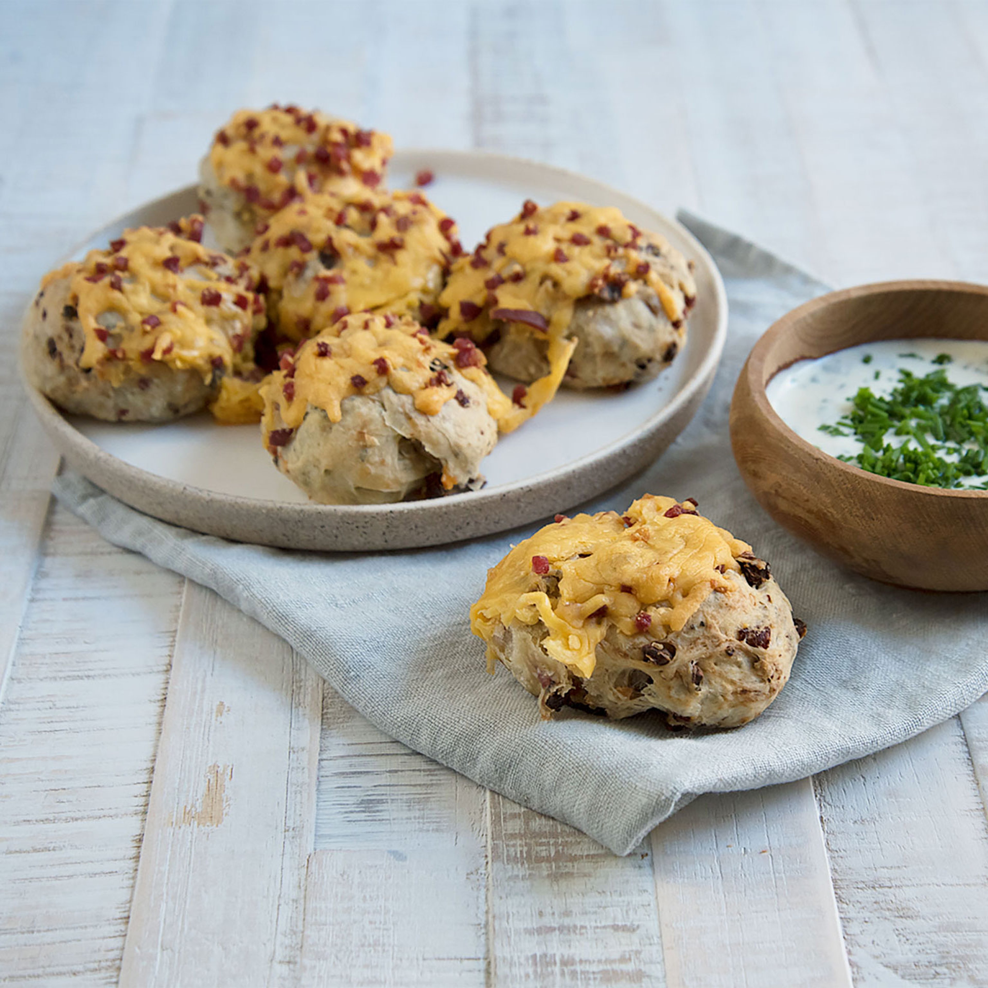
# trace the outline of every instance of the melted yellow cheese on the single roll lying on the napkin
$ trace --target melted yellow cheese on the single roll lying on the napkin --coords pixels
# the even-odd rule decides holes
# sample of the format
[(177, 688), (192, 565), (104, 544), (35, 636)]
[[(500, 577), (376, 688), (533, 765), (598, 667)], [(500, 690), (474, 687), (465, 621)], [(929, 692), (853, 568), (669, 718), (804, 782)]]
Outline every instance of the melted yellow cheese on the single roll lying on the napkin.
[(611, 624), (654, 638), (681, 630), (713, 591), (732, 589), (724, 573), (739, 570), (736, 557), (751, 550), (698, 515), (693, 502), (651, 494), (623, 518), (558, 517), (488, 571), (470, 609), (470, 628), (487, 642), (489, 663), (499, 625), (541, 621), (545, 652), (586, 679)]

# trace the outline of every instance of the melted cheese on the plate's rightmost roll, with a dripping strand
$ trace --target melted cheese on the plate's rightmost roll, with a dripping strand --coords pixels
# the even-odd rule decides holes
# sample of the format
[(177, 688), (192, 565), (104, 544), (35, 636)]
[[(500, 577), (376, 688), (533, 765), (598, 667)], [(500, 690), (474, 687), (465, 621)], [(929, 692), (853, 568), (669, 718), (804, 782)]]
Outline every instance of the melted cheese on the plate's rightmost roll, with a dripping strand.
[(555, 394), (575, 343), (566, 338), (574, 305), (616, 301), (650, 288), (677, 328), (696, 297), (686, 261), (662, 237), (644, 233), (620, 210), (584, 203), (539, 208), (531, 200), (457, 260), (440, 304), (439, 335), (468, 333), (483, 343), (495, 329), (546, 341), (549, 373), (528, 388), (536, 410)]

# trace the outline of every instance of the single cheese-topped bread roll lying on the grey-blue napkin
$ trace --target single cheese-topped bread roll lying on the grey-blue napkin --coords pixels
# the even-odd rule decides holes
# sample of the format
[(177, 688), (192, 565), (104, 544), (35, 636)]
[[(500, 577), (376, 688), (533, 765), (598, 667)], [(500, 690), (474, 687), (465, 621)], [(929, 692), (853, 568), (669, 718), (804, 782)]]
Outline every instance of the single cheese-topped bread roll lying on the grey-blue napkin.
[(736, 727), (785, 685), (805, 625), (768, 563), (697, 513), (646, 494), (623, 517), (556, 516), (487, 574), (470, 610), (538, 697), (611, 717), (655, 708), (674, 725)]

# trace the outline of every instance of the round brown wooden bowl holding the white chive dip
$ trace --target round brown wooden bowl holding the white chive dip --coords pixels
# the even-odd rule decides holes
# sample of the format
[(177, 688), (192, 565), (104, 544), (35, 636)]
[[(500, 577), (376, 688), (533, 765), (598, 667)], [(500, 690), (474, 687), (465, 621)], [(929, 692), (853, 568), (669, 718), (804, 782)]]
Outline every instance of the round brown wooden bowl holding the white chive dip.
[(731, 446), (759, 503), (784, 528), (875, 580), (924, 590), (988, 590), (988, 492), (889, 480), (800, 439), (766, 396), (805, 358), (872, 343), (988, 340), (988, 288), (886, 282), (814, 298), (758, 341), (731, 402)]

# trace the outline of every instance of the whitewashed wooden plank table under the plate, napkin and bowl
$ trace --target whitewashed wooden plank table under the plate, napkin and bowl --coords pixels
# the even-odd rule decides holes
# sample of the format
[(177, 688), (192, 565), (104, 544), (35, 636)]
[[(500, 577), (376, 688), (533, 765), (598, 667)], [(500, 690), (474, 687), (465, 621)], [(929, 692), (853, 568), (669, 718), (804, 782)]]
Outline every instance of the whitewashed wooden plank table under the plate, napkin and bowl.
[(835, 286), (988, 282), (988, 4), (8, 0), (0, 24), (0, 980), (988, 985), (988, 700), (617, 859), (54, 505), (14, 363), (54, 258), (274, 100), (569, 166)]

